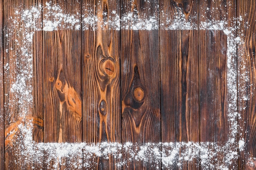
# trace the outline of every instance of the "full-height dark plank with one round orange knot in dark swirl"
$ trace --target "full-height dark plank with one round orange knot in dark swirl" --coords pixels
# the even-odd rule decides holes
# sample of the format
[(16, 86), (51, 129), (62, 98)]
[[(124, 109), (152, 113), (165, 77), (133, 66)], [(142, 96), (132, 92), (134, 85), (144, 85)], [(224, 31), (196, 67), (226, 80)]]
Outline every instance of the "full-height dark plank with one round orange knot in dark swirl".
[[(132, 15), (121, 21), (122, 142), (137, 143), (132, 149), (136, 151), (147, 142), (161, 141), (159, 4), (140, 0), (124, 0), (121, 4), (122, 17)], [(143, 26), (150, 18), (155, 20), (152, 30)], [(161, 161), (136, 161), (126, 152), (123, 160), (123, 169), (161, 169)]]

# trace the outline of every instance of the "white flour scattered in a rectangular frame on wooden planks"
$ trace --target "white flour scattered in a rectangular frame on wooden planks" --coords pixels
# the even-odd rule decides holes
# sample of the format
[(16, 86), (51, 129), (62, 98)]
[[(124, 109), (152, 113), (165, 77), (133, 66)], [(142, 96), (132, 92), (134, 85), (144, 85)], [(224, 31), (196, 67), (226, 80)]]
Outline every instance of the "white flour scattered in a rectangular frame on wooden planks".
[[(42, 23), (42, 10), (44, 12), (44, 20)], [(85, 8), (83, 9), (85, 10)], [(134, 13), (139, 11), (128, 12), (121, 17), (117, 14), (117, 11), (110, 11), (111, 15), (108, 16), (107, 21), (103, 21), (101, 15), (94, 15), (92, 9), (86, 9), (88, 13), (82, 15), (77, 12), (76, 14), (69, 14), (62, 11), (58, 4), (52, 4), (51, 2), (44, 4), (42, 7), (31, 7), (30, 9), (20, 10), (17, 9), (15, 16), (10, 18), (11, 26), (7, 29), (5, 36), (12, 40), (12, 37), (21, 37), (20, 40), (14, 40), (16, 51), (13, 51), (13, 47), (9, 46), (5, 49), (5, 53), (13, 54), (16, 57), (15, 62), (10, 62), (4, 66), (5, 75), (8, 75), (9, 71), (13, 68), (18, 70), (12, 77), (14, 79), (11, 84), (10, 94), (13, 98), (9, 99), (8, 106), (17, 106), (15, 103), (18, 101), (20, 107), (19, 118), (26, 122), (26, 125), (20, 123), (18, 126), (24, 137), (17, 143), (17, 147), (21, 148), (21, 153), (17, 152), (17, 155), (23, 155), (27, 157), (27, 161), (33, 161), (38, 164), (49, 165), (52, 161), (55, 162), (54, 168), (58, 169), (63, 165), (62, 158), (67, 160), (67, 164), (72, 164), (72, 167), (76, 169), (87, 168), (90, 166), (90, 159), (94, 157), (101, 157), (102, 159), (109, 159), (110, 155), (116, 159), (118, 167), (126, 165), (129, 160), (125, 160), (122, 157), (124, 155), (130, 155), (130, 158), (134, 158), (137, 161), (155, 162), (158, 164), (162, 161), (162, 166), (172, 168), (177, 165), (182, 167), (187, 161), (198, 161), (202, 169), (229, 169), (233, 161), (238, 158), (237, 148), (243, 151), (245, 147), (244, 139), (240, 139), (237, 143), (238, 135), (238, 121), (240, 115), (237, 111), (237, 71), (236, 71), (236, 46), (243, 43), (240, 37), (236, 37), (234, 34), (235, 27), (228, 27), (227, 23), (219, 20), (207, 20), (207, 22), (201, 22), (198, 26), (197, 23), (191, 22), (193, 18), (186, 21), (184, 14), (178, 10), (177, 16), (174, 19), (167, 17), (167, 14), (161, 12), (161, 15), (166, 18), (165, 21), (160, 21), (158, 16), (146, 16), (146, 14), (140, 13), (140, 17)], [(18, 22), (18, 19), (20, 22)], [(240, 20), (241, 18), (238, 18)], [(120, 24), (122, 23), (122, 24)], [(132, 144), (130, 142), (119, 143), (107, 143), (102, 142), (98, 144), (87, 143), (35, 143), (32, 139), (32, 118), (31, 108), (33, 102), (32, 96), (32, 78), (33, 78), (33, 51), (32, 41), (34, 31), (54, 31), (58, 29), (131, 29), (131, 30), (191, 30), (191, 29), (208, 29), (208, 30), (220, 30), (224, 31), (227, 35), (227, 93), (228, 93), (228, 120), (229, 120), (229, 139), (223, 146), (213, 142), (171, 142), (171, 143), (146, 143), (143, 146), (138, 144)], [(18, 36), (17, 36), (18, 35)], [(11, 42), (9, 42), (11, 43)], [(13, 65), (14, 64), (14, 65)], [(242, 75), (243, 76), (243, 75)], [(247, 96), (245, 96), (247, 97)], [(249, 98), (248, 98), (249, 99)], [(29, 117), (29, 118), (28, 118)], [(13, 123), (11, 121), (11, 123)], [(238, 145), (238, 146), (237, 146)], [(48, 155), (46, 159), (43, 159), (45, 155)], [(216, 162), (211, 162), (216, 155), (224, 155), (223, 160), (216, 158)], [(22, 157), (20, 157), (22, 158)], [(88, 161), (83, 161), (88, 160)], [(24, 161), (24, 160), (23, 160)], [(26, 160), (25, 160), (26, 162)], [(199, 165), (198, 165), (199, 166)], [(158, 167), (159, 168), (159, 167)]]

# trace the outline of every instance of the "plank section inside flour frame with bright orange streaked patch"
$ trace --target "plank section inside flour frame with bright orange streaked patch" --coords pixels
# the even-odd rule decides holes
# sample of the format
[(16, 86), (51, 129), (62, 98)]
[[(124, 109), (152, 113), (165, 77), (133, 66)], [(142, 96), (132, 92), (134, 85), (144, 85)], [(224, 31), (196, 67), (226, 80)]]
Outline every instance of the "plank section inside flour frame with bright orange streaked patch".
[[(45, 142), (81, 142), (81, 49), (77, 48), (81, 46), (81, 32), (44, 32), (43, 40)], [(62, 163), (60, 169), (79, 164), (82, 156), (77, 156), (77, 160), (62, 160), (68, 163)]]

